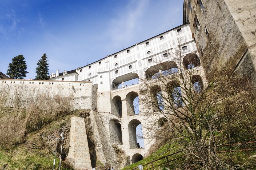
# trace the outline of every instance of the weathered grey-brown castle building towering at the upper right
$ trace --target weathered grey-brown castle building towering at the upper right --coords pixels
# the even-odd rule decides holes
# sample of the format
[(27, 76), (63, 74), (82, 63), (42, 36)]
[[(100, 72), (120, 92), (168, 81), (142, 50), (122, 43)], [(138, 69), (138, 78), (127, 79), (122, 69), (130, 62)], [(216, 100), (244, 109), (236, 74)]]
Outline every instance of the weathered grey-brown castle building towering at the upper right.
[(256, 84), (255, 0), (184, 0), (183, 23), (189, 23), (204, 69), (226, 64)]

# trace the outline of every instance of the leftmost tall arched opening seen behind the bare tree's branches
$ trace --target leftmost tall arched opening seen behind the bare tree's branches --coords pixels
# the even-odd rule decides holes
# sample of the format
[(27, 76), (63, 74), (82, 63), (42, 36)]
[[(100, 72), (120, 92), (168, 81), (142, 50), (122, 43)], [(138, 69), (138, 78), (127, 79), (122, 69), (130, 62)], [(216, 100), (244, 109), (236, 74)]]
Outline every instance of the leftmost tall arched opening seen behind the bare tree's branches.
[(158, 85), (155, 85), (151, 87), (150, 92), (152, 94), (152, 100), (153, 100), (152, 104), (153, 104), (154, 111), (164, 110), (161, 87)]

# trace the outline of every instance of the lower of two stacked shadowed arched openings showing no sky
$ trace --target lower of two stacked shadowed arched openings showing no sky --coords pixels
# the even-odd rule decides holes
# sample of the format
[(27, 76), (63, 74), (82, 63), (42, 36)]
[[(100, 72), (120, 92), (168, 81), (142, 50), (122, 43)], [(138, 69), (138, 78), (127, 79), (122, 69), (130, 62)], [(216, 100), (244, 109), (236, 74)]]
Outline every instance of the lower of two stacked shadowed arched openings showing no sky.
[(118, 145), (123, 144), (122, 139), (122, 127), (117, 119), (111, 119), (109, 121), (110, 140)]

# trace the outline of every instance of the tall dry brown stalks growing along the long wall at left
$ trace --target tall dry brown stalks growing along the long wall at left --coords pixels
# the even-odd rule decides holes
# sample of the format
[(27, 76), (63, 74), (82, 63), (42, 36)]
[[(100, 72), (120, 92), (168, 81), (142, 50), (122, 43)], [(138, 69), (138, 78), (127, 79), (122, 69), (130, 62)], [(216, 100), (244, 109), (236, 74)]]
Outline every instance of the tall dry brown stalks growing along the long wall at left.
[[(64, 97), (61, 97), (64, 96)], [(28, 132), (67, 115), (73, 110), (72, 96), (62, 91), (17, 86), (0, 88), (0, 145), (9, 149)]]

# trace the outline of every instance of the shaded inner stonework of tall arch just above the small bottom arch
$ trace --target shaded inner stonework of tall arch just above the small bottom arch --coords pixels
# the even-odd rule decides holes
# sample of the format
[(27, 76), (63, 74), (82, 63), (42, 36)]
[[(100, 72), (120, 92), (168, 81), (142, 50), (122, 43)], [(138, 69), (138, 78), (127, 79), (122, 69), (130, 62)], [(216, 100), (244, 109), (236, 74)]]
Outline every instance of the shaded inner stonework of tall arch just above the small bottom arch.
[(128, 124), (130, 148), (140, 147), (139, 143), (137, 142), (136, 134), (136, 128), (138, 127), (139, 124), (141, 124), (141, 122), (137, 119), (131, 120)]

